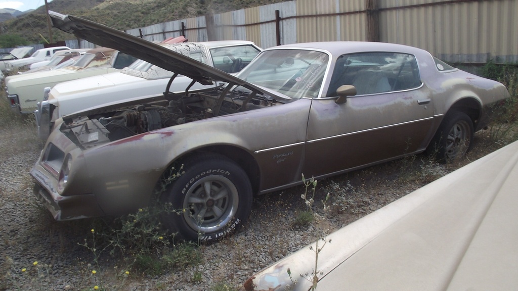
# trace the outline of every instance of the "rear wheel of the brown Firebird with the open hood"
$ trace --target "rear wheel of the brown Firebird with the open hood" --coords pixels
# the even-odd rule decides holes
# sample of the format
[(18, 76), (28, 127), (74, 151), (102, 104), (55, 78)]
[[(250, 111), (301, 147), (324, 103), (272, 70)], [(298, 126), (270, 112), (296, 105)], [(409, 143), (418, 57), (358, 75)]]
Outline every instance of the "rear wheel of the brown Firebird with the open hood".
[(473, 122), (464, 112), (450, 112), (430, 144), (440, 162), (453, 162), (468, 152), (473, 140)]

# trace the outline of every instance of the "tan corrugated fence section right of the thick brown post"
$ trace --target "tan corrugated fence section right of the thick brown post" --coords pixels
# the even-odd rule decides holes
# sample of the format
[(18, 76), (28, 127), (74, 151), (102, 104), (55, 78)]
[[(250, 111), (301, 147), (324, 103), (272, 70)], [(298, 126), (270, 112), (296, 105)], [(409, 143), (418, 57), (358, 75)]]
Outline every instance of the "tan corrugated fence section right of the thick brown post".
[(518, 62), (516, 0), (380, 1), (381, 41), (420, 47), (450, 62)]

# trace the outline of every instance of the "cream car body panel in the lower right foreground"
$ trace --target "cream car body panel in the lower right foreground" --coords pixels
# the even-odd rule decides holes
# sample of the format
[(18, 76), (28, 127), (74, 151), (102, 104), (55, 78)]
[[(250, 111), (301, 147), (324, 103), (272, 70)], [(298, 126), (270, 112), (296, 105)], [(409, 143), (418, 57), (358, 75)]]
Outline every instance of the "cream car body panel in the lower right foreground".
[(515, 141), (323, 237), (316, 272), (313, 243), (241, 290), (515, 290), (517, 153)]

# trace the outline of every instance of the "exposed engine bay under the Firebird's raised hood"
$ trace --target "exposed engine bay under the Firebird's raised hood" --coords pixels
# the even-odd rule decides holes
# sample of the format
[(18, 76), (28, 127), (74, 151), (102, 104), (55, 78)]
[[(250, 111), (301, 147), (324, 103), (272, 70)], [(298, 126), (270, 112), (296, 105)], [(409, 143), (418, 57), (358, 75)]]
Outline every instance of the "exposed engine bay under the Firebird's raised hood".
[(60, 130), (87, 149), (151, 130), (277, 104), (275, 98), (262, 92), (240, 87), (232, 91), (221, 86), (185, 94), (165, 92), (163, 98), (149, 103), (66, 119)]

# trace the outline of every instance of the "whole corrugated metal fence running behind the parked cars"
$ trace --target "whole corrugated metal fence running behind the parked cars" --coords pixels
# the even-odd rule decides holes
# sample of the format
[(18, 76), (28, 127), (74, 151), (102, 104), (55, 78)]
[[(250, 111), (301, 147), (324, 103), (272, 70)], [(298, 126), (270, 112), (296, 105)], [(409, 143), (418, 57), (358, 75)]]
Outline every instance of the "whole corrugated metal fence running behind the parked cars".
[[(518, 63), (518, 0), (297, 0), (214, 14), (215, 37), (268, 48), (280, 43), (367, 39), (366, 2), (377, 1), (380, 41), (423, 48), (448, 62)], [(206, 18), (127, 32), (148, 40), (181, 35), (206, 41)]]

